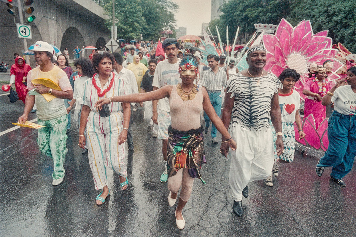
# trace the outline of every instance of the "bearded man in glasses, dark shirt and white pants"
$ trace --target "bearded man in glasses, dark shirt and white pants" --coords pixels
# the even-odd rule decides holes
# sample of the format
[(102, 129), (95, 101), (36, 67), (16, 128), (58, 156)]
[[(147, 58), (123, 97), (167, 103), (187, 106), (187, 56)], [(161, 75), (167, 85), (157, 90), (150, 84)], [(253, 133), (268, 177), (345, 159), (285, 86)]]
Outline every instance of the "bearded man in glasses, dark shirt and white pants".
[[(153, 76), (157, 66), (156, 60), (150, 60), (148, 62), (148, 71), (143, 75), (141, 82), (141, 93), (147, 93), (153, 90), (152, 82)], [(153, 123), (152, 120), (152, 101), (145, 102), (145, 112), (143, 113), (143, 120), (148, 123), (147, 131), (151, 131), (153, 128), (153, 138), (158, 136), (158, 125)]]

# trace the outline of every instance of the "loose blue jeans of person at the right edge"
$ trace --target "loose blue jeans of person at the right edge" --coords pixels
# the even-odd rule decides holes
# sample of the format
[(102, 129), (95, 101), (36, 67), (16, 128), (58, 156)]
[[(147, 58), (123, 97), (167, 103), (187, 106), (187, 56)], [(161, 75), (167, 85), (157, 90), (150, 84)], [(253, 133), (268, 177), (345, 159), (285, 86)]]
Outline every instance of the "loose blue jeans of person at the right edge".
[(317, 167), (333, 167), (330, 176), (341, 179), (351, 171), (356, 156), (356, 115), (333, 112), (328, 121), (329, 146)]

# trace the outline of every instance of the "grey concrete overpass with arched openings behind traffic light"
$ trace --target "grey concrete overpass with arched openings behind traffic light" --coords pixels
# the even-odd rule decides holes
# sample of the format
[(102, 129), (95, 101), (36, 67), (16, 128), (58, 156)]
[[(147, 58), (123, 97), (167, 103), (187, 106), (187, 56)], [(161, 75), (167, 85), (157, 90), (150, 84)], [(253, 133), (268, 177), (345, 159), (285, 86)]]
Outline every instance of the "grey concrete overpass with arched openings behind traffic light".
[[(20, 23), (17, 1), (21, 1), (21, 4), (23, 1), (12, 1), (16, 11), (15, 22)], [(6, 2), (0, 0), (0, 61), (11, 65), (14, 63), (14, 53), (21, 54), (23, 50), (23, 40), (17, 37), (14, 17), (7, 12)], [(36, 16), (36, 19), (25, 23), (32, 29), (32, 39), (27, 39), (28, 46), (39, 40), (46, 41), (61, 51), (68, 48), (69, 57), (73, 59), (72, 50), (75, 46), (103, 46), (111, 37), (110, 31), (104, 26), (108, 16), (94, 1), (35, 0), (31, 6), (35, 8), (31, 15)], [(24, 14), (24, 17), (27, 16)], [(90, 53), (86, 52), (86, 56)], [(34, 64), (32, 57), (31, 66)]]

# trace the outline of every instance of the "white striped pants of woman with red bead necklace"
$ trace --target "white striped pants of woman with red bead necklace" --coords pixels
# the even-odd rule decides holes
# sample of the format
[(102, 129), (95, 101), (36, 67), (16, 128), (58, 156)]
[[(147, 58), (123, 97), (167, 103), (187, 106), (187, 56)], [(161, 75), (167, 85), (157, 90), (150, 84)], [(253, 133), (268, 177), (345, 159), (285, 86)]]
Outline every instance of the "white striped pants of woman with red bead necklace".
[(88, 158), (95, 189), (108, 185), (106, 169), (110, 168), (122, 177), (127, 177), (125, 143), (119, 145), (119, 135), (123, 129), (122, 112), (111, 113), (101, 118), (99, 113), (90, 112), (87, 122)]

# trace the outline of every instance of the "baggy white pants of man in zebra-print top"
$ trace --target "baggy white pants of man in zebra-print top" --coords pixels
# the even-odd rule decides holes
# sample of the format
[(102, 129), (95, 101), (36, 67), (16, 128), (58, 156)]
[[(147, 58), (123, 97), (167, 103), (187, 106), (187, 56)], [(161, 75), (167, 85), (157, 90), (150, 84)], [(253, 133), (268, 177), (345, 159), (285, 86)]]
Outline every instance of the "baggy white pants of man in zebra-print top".
[(229, 150), (230, 187), (232, 198), (242, 200), (242, 189), (249, 182), (266, 179), (272, 173), (274, 148), (272, 132), (242, 128), (239, 124), (230, 129), (236, 141), (236, 151)]

